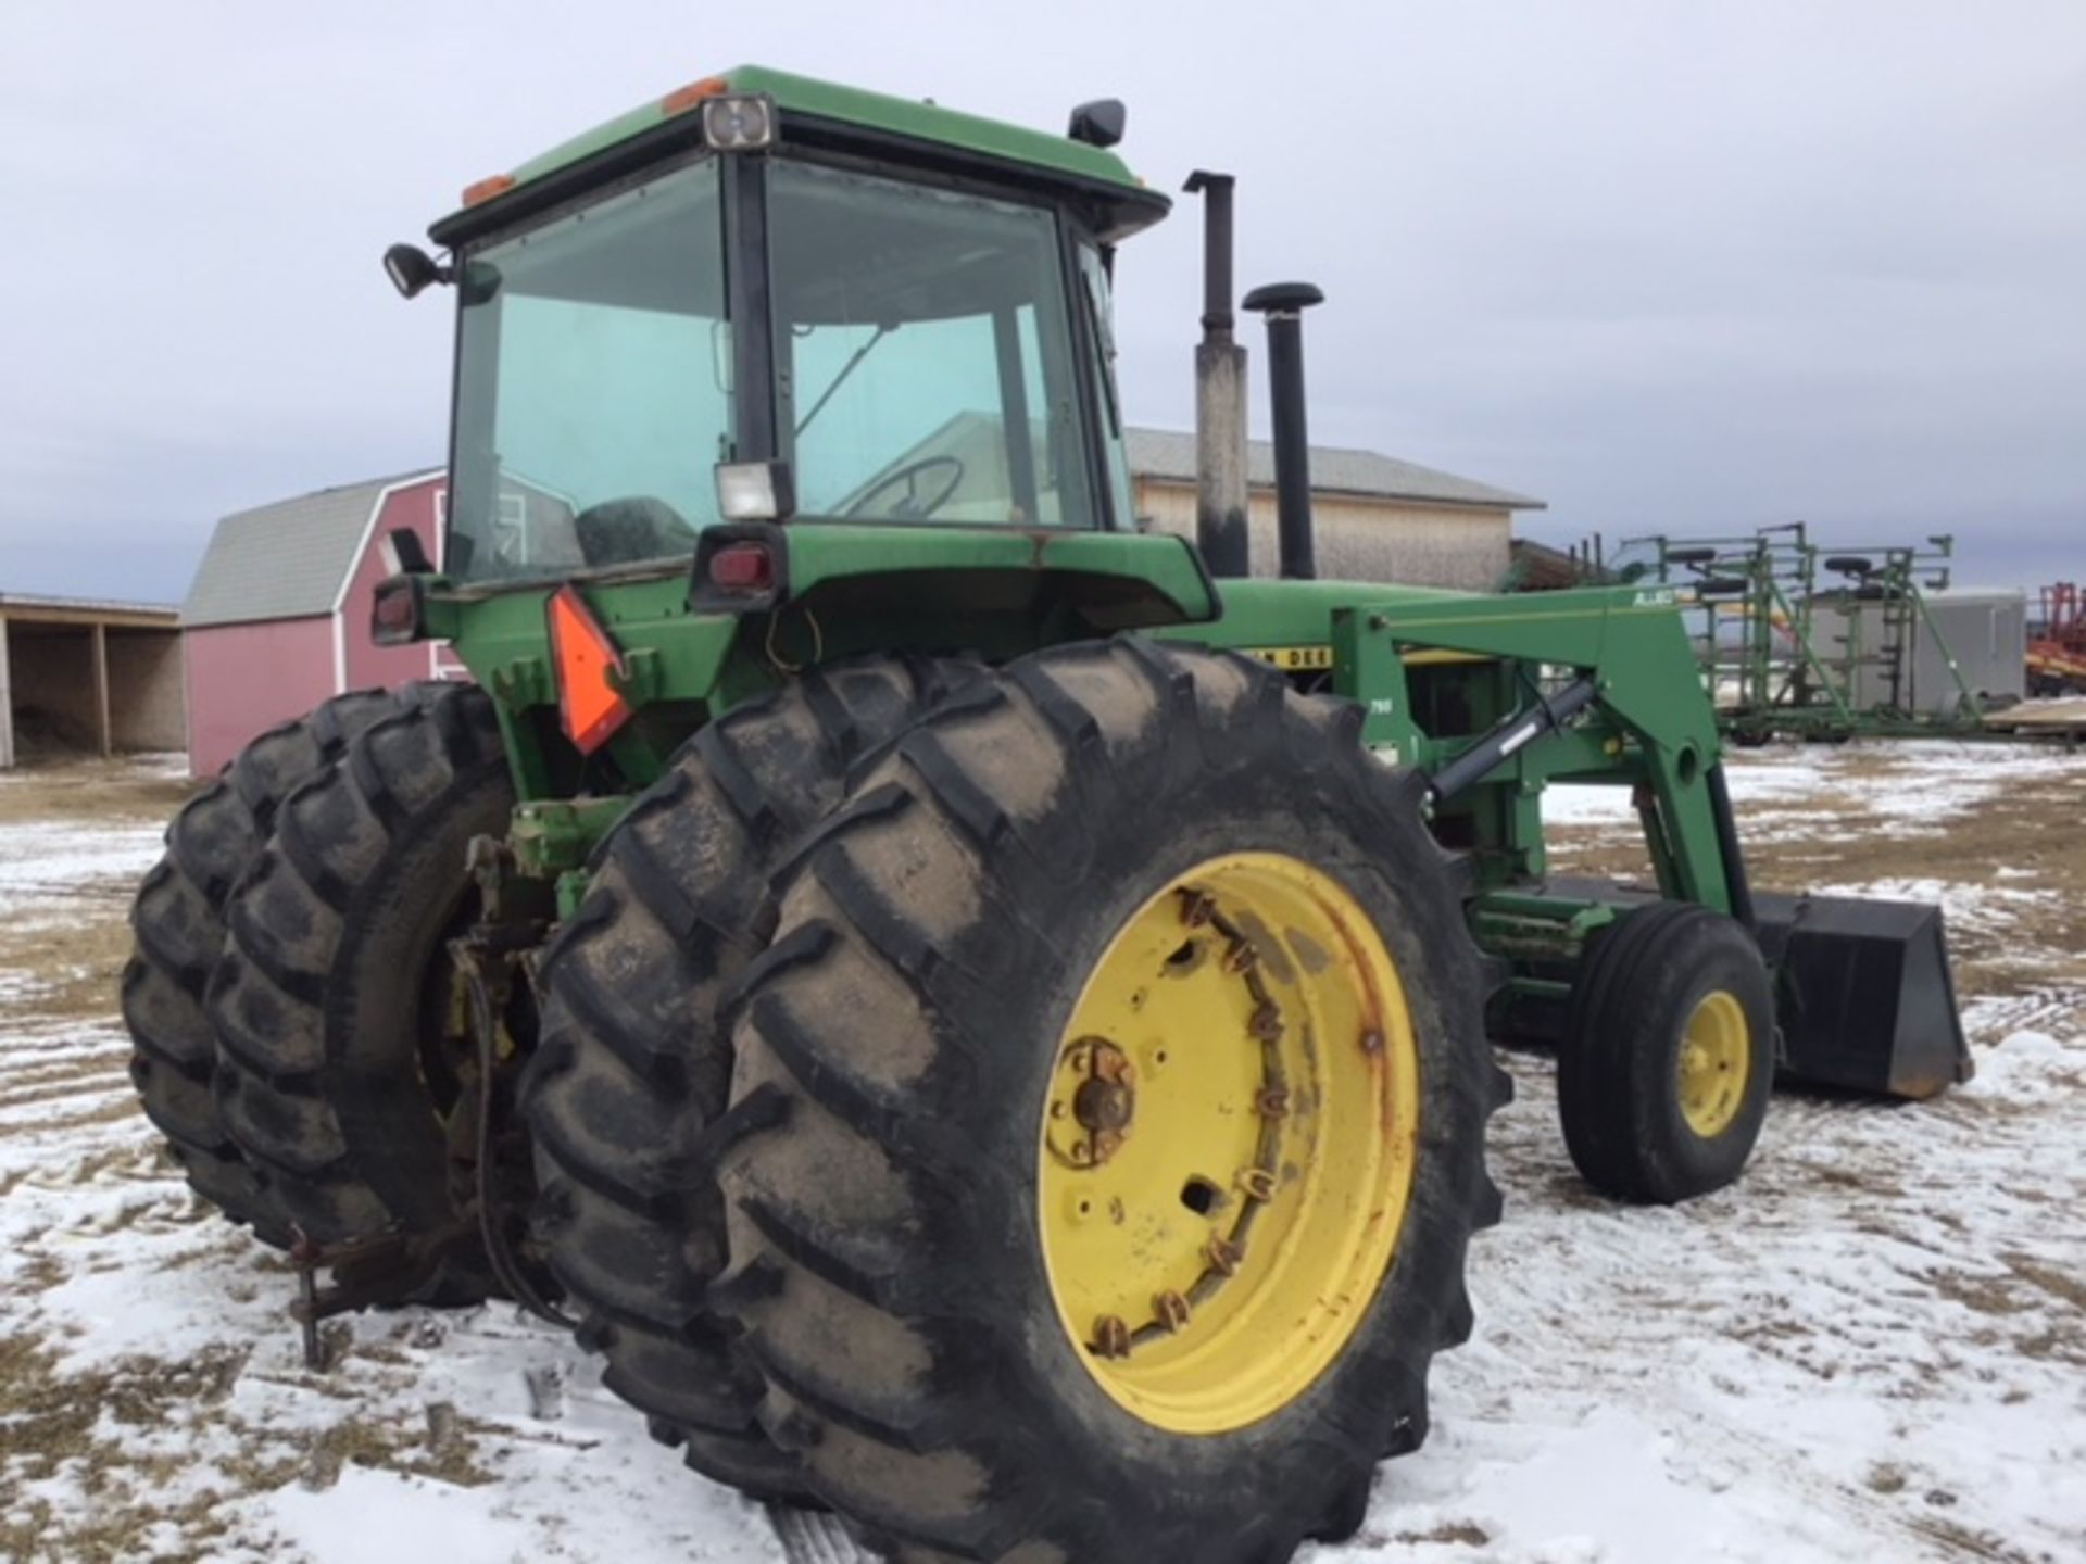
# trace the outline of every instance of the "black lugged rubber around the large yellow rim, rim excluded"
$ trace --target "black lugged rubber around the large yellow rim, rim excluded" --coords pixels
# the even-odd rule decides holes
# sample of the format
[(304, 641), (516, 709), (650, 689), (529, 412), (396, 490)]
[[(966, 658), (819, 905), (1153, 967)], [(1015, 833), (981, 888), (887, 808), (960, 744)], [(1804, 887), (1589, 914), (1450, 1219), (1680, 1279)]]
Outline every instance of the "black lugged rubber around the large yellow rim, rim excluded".
[[(1277, 1462), (1281, 1481), (1241, 1497), (1185, 1474), (1137, 1485), (1097, 1460), (1062, 1466), (1049, 1431), (1076, 1414), (1024, 1358), (1056, 1322), (1010, 1318), (1008, 1282), (972, 1264), (1008, 1247), (1020, 1178), (995, 1155), (1008, 1124), (991, 1091), (1005, 1007), (1026, 1003), (1014, 972), (1056, 943), (1051, 913), (1078, 922), (1078, 886), (1110, 874), (1108, 832), (1133, 830), (1145, 801), (1185, 778), (1293, 767), (1396, 842), (1396, 872), (1343, 867), (1393, 897), (1408, 874), (1423, 882), (1408, 905), (1460, 907), (1421, 826), (1423, 780), (1352, 763), (1358, 744), (1350, 707), (1295, 697), (1247, 659), (1135, 636), (1072, 644), (939, 707), (799, 847), (778, 934), (732, 1007), (734, 1101), (786, 1111), (766, 1107), (720, 1155), (730, 1270), (711, 1305), (761, 1368), (761, 1424), (889, 1558), (1283, 1560), (1350, 1535), (1375, 1462), (1423, 1437), (1427, 1362), (1471, 1330), (1466, 1239), (1498, 1216), (1481, 1132), (1506, 1091), (1460, 915), (1398, 936), (1441, 955), (1429, 982), (1454, 997), (1454, 1045), (1429, 1086), (1454, 1124), (1431, 1130), (1431, 1182), (1408, 1207), (1418, 1257), (1400, 1249), (1402, 1328), (1356, 1339), (1341, 1391), (1300, 1414), (1314, 1422)], [(1118, 813), (1133, 824), (1110, 824)], [(1212, 1526), (1210, 1506), (1227, 1520)]]

